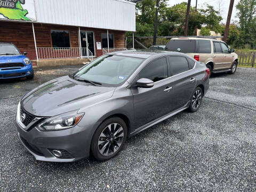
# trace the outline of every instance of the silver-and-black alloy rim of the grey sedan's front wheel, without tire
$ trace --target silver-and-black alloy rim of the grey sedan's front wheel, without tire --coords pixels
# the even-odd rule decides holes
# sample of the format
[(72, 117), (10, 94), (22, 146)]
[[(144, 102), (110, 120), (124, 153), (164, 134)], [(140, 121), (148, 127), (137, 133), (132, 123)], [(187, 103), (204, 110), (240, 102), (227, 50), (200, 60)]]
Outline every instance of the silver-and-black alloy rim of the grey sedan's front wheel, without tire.
[(101, 155), (109, 156), (115, 153), (124, 139), (123, 127), (118, 123), (111, 123), (101, 132), (98, 149)]

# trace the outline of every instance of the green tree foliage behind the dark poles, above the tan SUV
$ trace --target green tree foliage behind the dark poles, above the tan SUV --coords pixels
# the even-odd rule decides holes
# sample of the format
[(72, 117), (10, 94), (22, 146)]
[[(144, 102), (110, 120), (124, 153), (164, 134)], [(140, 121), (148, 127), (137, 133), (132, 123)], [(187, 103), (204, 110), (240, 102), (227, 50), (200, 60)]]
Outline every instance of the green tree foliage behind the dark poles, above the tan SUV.
[[(183, 35), (187, 3), (179, 3), (167, 7), (166, 0), (159, 1), (158, 7), (158, 36)], [(136, 5), (136, 35), (153, 36), (155, 18), (155, 0), (144, 0)], [(222, 18), (213, 6), (206, 5), (206, 9), (195, 11), (195, 7), (190, 7), (188, 35), (196, 34), (196, 27), (201, 28), (206, 25), (207, 29), (220, 31), (219, 22)]]

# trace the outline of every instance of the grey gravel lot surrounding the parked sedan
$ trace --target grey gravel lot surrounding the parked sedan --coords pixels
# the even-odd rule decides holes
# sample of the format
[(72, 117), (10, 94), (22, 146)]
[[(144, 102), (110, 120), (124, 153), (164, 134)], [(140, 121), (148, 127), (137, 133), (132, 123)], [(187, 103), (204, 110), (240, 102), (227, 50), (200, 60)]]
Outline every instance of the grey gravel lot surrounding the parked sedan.
[(126, 141), (107, 162), (36, 161), (19, 142), (21, 95), (80, 66), (0, 82), (0, 191), (255, 191), (256, 70), (218, 74), (197, 113), (183, 111)]

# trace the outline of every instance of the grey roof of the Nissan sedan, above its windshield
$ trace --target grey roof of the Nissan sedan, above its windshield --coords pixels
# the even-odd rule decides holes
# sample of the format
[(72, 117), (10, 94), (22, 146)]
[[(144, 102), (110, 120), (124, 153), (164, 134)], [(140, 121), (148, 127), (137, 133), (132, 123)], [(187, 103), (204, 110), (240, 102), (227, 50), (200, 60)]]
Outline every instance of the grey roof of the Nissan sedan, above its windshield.
[(182, 55), (187, 56), (184, 53), (175, 52), (175, 51), (159, 51), (159, 50), (127, 50), (127, 51), (117, 51), (108, 53), (109, 55), (119, 55), (126, 57), (134, 57), (141, 59), (148, 59), (154, 56), (162, 56), (162, 55)]

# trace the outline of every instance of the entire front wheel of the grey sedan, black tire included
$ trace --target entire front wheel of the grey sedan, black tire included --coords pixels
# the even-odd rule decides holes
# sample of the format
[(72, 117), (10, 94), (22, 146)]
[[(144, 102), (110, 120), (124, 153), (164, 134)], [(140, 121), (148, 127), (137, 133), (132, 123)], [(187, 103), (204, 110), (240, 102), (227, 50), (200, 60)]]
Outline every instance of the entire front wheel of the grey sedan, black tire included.
[(95, 131), (91, 143), (91, 153), (98, 161), (106, 161), (116, 156), (123, 148), (127, 137), (127, 126), (123, 119), (111, 117), (103, 121)]

